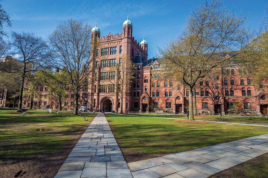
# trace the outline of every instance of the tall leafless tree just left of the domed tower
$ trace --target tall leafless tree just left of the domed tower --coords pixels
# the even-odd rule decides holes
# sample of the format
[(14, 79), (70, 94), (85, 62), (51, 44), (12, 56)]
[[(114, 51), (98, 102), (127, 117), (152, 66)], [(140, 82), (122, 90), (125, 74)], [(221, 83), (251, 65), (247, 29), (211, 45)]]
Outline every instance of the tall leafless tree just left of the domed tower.
[(67, 73), (67, 80), (75, 93), (74, 115), (78, 111), (78, 93), (92, 82), (89, 73), (92, 66), (91, 26), (82, 21), (69, 19), (60, 23), (49, 35), (54, 66)]

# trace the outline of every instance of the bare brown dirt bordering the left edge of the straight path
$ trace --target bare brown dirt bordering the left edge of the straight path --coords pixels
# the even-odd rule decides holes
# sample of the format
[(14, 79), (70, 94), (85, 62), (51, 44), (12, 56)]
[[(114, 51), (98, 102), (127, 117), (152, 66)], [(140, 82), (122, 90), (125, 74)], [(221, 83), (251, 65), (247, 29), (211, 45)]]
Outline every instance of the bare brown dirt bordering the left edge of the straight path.
[(0, 178), (53, 178), (90, 123), (75, 132), (66, 133), (72, 135), (71, 139), (57, 152), (16, 158), (16, 160), (0, 160)]

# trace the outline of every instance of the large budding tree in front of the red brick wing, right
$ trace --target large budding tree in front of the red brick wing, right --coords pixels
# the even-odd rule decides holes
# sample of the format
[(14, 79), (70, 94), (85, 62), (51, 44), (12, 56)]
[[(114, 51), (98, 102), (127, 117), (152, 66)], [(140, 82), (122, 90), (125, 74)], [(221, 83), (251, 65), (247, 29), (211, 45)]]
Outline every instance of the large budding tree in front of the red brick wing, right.
[(183, 33), (159, 49), (166, 72), (189, 88), (189, 120), (194, 120), (196, 82), (212, 69), (231, 63), (252, 42), (246, 19), (219, 1), (206, 1), (191, 10)]

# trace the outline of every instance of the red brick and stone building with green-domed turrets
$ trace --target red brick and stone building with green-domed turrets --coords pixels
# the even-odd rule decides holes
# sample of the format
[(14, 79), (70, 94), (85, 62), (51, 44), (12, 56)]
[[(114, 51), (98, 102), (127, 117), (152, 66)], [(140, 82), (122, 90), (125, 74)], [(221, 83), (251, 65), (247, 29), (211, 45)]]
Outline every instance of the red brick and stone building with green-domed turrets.
[[(186, 112), (188, 106), (188, 89), (176, 81), (164, 80), (162, 77), (161, 60), (148, 58), (145, 40), (140, 43), (132, 36), (133, 25), (127, 18), (123, 23), (121, 34), (100, 36), (97, 26), (92, 29), (92, 40), (99, 44), (95, 49), (97, 57), (93, 65), (98, 65), (90, 77), (96, 77), (96, 82), (88, 86), (87, 91), (80, 94), (80, 106), (105, 111), (116, 110), (123, 105), (123, 112), (148, 111), (152, 104), (156, 110), (165, 112)], [(119, 64), (122, 56), (131, 60), (137, 70), (131, 87), (124, 88), (123, 101), (116, 95), (116, 88), (107, 82), (107, 77), (116, 80), (116, 74), (110, 74), (110, 66)], [(228, 55), (228, 54), (226, 54)], [(224, 57), (224, 56), (223, 56)], [(267, 114), (268, 82), (258, 86), (253, 84), (252, 74), (237, 66), (227, 66), (225, 69), (215, 69), (210, 77), (199, 81), (196, 85), (196, 102), (198, 113), (232, 113), (250, 112)], [(40, 90), (45, 90), (44, 88)], [(72, 108), (74, 97), (69, 92), (68, 98), (62, 102), (65, 108)], [(29, 99), (24, 99), (24, 105), (29, 105)], [(36, 105), (58, 104), (55, 98), (34, 98)], [(235, 105), (235, 106), (234, 106)]]

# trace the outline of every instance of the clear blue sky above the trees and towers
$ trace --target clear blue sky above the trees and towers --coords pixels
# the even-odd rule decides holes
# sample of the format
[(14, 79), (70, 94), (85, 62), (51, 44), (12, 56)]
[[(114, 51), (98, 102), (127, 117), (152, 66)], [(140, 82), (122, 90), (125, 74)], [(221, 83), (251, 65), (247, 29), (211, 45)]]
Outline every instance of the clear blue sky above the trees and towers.
[[(133, 23), (133, 36), (141, 42), (143, 36), (148, 42), (148, 57), (158, 54), (170, 38), (183, 29), (186, 18), (194, 5), (202, 1), (104, 1), (104, 0), (2, 0), (0, 2), (13, 20), (12, 28), (6, 31), (32, 31), (47, 39), (58, 23), (74, 18), (83, 20), (101, 30), (101, 36), (122, 32), (122, 24), (129, 15)], [(248, 23), (258, 28), (264, 19), (266, 0), (223, 0), (227, 8), (249, 14)], [(7, 39), (7, 38), (5, 38)]]

